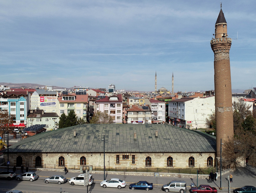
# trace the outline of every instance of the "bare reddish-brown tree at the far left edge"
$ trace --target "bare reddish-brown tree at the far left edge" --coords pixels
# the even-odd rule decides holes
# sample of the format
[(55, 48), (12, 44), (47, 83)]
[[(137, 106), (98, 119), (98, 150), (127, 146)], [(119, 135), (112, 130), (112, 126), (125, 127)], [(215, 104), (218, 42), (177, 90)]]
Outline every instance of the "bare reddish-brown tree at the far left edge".
[[(0, 111), (0, 136), (4, 137), (4, 133), (12, 132), (12, 117), (8, 111)], [(4, 139), (5, 141), (5, 139)]]

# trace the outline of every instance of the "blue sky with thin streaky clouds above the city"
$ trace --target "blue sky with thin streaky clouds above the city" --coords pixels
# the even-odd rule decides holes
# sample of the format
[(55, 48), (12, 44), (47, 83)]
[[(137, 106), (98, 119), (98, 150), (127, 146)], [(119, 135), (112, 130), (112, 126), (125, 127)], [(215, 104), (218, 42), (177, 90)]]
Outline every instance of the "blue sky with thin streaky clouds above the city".
[[(222, 1), (232, 89), (255, 87), (256, 1)], [(0, 1), (0, 82), (141, 91), (214, 89), (220, 1)], [(237, 38), (238, 32), (238, 39)]]

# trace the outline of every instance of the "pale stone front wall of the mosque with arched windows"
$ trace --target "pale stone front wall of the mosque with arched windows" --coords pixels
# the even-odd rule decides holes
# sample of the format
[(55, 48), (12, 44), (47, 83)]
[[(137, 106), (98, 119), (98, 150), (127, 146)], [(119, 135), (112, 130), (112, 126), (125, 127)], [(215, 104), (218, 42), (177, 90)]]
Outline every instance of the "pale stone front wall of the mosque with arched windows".
[[(119, 155), (119, 164), (116, 164), (116, 155)], [(122, 159), (123, 155), (129, 155), (129, 159)], [(132, 164), (132, 155), (135, 155), (135, 164)], [(37, 156), (42, 159), (42, 165), (55, 164), (59, 165), (59, 157), (65, 158), (67, 165), (80, 165), (80, 158), (86, 158), (86, 165), (103, 166), (103, 153), (9, 153), (9, 161), (16, 163), (18, 156), (22, 157), (23, 165), (26, 162), (33, 163)], [(145, 167), (146, 157), (151, 158), (152, 167), (166, 167), (167, 158), (173, 158), (173, 168), (188, 168), (188, 158), (195, 158), (195, 167), (207, 167), (207, 158), (213, 158), (213, 165), (215, 160), (215, 153), (105, 153), (106, 167)], [(7, 160), (7, 153), (4, 154), (4, 160)]]

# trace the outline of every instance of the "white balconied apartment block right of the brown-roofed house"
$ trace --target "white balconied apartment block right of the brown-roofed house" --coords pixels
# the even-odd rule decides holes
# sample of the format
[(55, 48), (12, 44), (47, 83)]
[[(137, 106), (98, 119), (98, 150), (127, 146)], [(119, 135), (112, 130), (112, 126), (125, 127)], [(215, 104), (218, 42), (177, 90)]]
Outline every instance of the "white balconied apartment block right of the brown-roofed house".
[(145, 104), (150, 105), (152, 123), (165, 123), (165, 102), (145, 98)]

